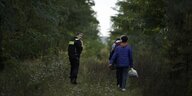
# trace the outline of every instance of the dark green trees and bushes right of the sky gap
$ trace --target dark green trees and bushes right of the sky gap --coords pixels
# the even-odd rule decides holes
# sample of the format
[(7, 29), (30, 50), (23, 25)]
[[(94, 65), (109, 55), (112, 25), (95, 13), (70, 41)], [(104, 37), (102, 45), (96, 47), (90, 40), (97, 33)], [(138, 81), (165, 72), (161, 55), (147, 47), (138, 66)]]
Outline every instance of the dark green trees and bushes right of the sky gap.
[(128, 34), (143, 96), (191, 96), (191, 0), (120, 0), (111, 39)]

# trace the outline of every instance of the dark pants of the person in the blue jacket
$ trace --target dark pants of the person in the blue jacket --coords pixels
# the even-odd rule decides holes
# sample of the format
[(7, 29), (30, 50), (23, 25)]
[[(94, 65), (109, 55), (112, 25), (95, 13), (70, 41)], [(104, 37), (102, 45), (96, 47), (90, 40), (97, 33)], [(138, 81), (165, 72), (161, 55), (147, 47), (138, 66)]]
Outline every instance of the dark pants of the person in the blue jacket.
[(128, 78), (128, 68), (117, 67), (116, 78), (117, 78), (117, 85), (120, 85), (120, 88), (125, 88)]

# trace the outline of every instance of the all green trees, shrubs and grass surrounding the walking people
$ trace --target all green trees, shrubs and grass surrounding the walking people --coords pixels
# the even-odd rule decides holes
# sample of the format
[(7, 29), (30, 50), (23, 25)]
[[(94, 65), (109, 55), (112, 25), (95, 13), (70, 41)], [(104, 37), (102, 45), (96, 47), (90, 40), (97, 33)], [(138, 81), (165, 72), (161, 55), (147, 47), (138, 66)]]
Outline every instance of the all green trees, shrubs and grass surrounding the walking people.
[[(0, 0), (0, 96), (191, 96), (192, 1), (119, 0), (108, 45), (93, 0)], [(78, 81), (68, 40), (84, 33)], [(121, 92), (108, 69), (111, 42), (127, 34), (139, 78)]]

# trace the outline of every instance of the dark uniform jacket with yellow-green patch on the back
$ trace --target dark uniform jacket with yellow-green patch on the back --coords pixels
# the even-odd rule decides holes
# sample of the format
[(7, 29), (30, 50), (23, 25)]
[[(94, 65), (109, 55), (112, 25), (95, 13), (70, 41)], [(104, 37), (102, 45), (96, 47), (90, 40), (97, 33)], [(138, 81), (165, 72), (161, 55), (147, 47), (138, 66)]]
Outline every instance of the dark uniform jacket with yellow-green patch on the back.
[(69, 58), (79, 58), (83, 50), (81, 40), (74, 37), (69, 41), (68, 56)]

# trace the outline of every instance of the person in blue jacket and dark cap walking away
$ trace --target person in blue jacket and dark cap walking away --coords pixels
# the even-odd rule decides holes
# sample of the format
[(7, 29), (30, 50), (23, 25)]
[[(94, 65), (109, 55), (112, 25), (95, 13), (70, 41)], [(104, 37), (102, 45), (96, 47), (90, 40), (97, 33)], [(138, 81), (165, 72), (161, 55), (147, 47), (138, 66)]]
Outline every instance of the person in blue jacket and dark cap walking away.
[(126, 81), (128, 78), (128, 69), (133, 67), (132, 49), (128, 45), (128, 37), (126, 35), (121, 36), (121, 44), (117, 46), (113, 56), (110, 59), (109, 67), (113, 62), (116, 62), (117, 71), (117, 84), (122, 91), (126, 91)]

